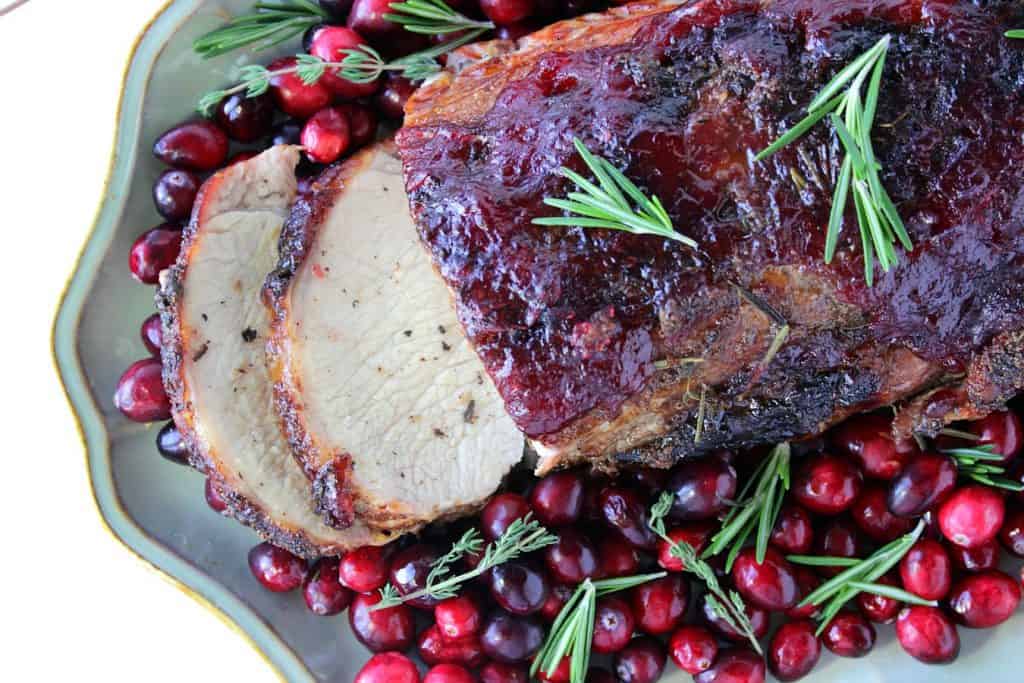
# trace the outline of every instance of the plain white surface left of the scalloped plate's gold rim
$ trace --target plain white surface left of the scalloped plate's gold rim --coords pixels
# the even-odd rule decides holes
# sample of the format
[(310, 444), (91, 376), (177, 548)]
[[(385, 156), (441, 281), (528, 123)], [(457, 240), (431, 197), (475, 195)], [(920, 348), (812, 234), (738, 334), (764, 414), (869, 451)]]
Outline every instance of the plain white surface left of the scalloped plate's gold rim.
[(50, 358), (57, 300), (101, 194), (124, 67), (162, 4), (30, 0), (0, 15), (5, 681), (276, 680), (241, 636), (101, 525)]

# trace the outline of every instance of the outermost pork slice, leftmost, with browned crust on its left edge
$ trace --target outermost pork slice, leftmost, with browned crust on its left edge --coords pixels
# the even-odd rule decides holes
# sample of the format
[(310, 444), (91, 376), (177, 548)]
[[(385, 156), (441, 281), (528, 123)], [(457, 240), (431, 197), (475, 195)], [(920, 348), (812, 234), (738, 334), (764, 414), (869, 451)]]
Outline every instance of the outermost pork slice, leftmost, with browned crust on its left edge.
[(273, 147), (203, 186), (177, 263), (162, 273), (164, 384), (194, 461), (228, 510), (305, 557), (388, 540), (355, 523), (339, 530), (313, 510), (309, 482), (273, 411), (260, 289), (295, 198), (298, 150)]

